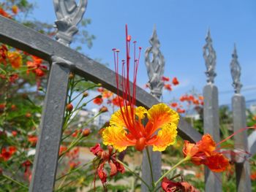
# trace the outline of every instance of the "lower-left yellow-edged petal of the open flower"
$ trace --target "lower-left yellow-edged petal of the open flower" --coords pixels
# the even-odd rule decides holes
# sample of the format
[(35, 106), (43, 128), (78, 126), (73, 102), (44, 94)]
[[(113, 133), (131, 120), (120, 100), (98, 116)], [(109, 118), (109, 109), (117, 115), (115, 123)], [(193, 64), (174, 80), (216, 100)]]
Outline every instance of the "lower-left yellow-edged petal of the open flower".
[(128, 139), (127, 131), (121, 126), (108, 126), (102, 132), (104, 145), (113, 145), (119, 152), (125, 150), (128, 146), (135, 145), (135, 140)]

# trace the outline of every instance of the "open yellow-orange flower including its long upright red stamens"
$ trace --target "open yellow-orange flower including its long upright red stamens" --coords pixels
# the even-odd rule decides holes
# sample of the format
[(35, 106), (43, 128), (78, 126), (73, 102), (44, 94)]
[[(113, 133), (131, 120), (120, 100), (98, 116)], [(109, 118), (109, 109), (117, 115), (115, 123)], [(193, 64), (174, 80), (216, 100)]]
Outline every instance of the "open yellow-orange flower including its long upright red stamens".
[[(127, 26), (126, 26), (126, 37)], [(140, 48), (139, 48), (140, 50)], [(116, 85), (118, 86), (118, 51), (113, 49), (116, 66)], [(179, 116), (167, 104), (156, 104), (150, 110), (144, 107), (135, 107), (136, 101), (136, 74), (138, 70), (140, 52), (135, 58), (135, 72), (133, 77), (133, 91), (129, 88), (129, 39), (127, 39), (127, 60), (122, 61), (121, 87), (122, 98), (119, 97), (120, 110), (110, 118), (110, 126), (102, 131), (104, 145), (113, 145), (119, 152), (128, 146), (135, 146), (136, 150), (143, 150), (146, 146), (153, 146), (154, 151), (163, 151), (167, 146), (173, 145), (177, 136)], [(125, 72), (126, 71), (126, 72)], [(126, 77), (124, 77), (124, 74)], [(118, 89), (119, 90), (119, 89)], [(117, 93), (119, 96), (120, 94)], [(123, 106), (123, 107), (122, 107)], [(146, 122), (146, 125), (143, 122)], [(158, 132), (157, 132), (158, 131)], [(157, 133), (157, 134), (156, 134)]]

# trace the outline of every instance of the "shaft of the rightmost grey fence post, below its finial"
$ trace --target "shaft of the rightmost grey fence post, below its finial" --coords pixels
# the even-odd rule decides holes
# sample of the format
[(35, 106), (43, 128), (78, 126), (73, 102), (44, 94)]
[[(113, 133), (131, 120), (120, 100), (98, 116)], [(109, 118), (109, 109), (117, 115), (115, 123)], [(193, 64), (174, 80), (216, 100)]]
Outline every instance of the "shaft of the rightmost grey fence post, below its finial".
[[(233, 108), (233, 130), (238, 131), (240, 128), (246, 127), (246, 107), (244, 96), (235, 94), (232, 98)], [(247, 134), (243, 131), (234, 136), (236, 149), (248, 151)], [(252, 191), (252, 183), (250, 178), (249, 161), (245, 158), (241, 162), (236, 162), (236, 189), (238, 192)]]

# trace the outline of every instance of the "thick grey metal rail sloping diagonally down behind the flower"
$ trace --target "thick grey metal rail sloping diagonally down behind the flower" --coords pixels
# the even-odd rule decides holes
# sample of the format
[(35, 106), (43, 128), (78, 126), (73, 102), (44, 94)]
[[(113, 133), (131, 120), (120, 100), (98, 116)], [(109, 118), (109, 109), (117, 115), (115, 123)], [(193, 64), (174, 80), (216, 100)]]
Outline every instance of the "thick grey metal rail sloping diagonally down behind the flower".
[[(86, 77), (87, 80), (91, 80), (92, 82), (102, 83), (103, 87), (116, 93), (115, 72), (99, 64), (97, 61), (1, 15), (0, 26), (0, 42), (17, 47), (20, 50), (24, 50), (49, 62), (51, 62), (52, 55), (70, 61), (72, 64), (66, 64), (66, 66), (72, 69), (72, 72)], [(119, 79), (121, 80), (121, 78)], [(154, 96), (149, 95), (139, 87), (137, 87), (136, 97), (136, 104), (146, 108), (159, 103)], [(178, 131), (181, 133), (182, 138), (188, 139), (189, 141), (196, 142), (201, 139), (201, 134), (189, 126), (182, 118), (178, 126)]]

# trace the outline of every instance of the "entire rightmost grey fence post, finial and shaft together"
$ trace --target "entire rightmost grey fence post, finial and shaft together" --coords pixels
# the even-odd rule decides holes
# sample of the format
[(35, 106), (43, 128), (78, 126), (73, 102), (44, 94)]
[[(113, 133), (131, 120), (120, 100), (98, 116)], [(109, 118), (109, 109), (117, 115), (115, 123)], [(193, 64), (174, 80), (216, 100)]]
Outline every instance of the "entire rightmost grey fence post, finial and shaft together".
[[(242, 87), (240, 82), (241, 66), (238, 63), (236, 45), (232, 54), (230, 70), (235, 89), (235, 94), (232, 97), (233, 131), (238, 131), (240, 128), (246, 127), (246, 106), (244, 96), (240, 93)], [(246, 131), (236, 134), (234, 140), (236, 149), (239, 151), (248, 151)], [(236, 158), (236, 189), (238, 192), (252, 191), (249, 161), (246, 160), (246, 153), (244, 155), (244, 157), (239, 156)]]

